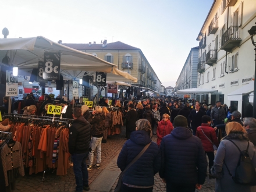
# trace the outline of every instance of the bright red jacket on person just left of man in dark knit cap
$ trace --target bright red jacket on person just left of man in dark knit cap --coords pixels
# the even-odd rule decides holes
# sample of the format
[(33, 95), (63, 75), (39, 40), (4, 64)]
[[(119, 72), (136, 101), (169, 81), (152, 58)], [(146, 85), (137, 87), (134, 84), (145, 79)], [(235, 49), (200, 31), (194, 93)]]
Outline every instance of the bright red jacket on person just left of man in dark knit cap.
[(170, 132), (172, 132), (173, 130), (173, 126), (172, 123), (170, 122), (170, 120), (168, 120), (167, 122), (164, 122), (163, 120), (161, 120), (161, 122), (158, 123), (158, 127), (157, 127), (157, 144), (158, 146), (160, 145), (162, 138), (168, 134), (170, 134)]

